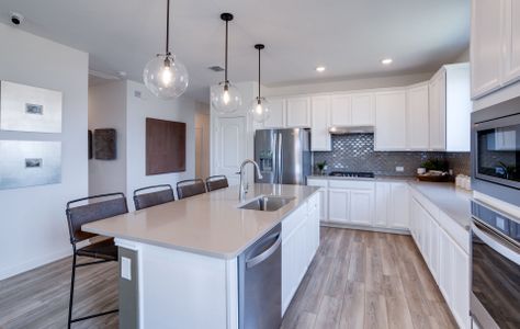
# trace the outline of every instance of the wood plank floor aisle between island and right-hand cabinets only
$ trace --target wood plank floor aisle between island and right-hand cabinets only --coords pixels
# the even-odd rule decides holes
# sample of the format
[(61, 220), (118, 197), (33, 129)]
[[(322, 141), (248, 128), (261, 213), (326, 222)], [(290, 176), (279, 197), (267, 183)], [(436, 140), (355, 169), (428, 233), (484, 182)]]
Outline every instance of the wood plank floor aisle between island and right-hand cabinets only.
[(411, 237), (321, 228), (282, 328), (457, 328)]

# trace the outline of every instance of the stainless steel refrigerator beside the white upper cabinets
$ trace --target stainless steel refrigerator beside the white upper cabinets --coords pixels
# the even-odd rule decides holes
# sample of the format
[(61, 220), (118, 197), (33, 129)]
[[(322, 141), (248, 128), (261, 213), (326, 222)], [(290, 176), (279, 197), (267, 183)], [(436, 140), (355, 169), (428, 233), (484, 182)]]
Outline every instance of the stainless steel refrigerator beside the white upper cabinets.
[(255, 133), (255, 161), (263, 178), (257, 183), (305, 184), (310, 174), (308, 129), (260, 129)]

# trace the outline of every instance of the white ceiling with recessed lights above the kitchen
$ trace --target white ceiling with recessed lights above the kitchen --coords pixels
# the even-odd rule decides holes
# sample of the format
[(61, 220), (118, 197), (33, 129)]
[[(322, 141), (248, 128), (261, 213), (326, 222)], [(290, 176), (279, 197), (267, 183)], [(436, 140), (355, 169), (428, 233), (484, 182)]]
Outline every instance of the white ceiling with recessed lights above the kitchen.
[[(166, 0), (2, 0), (0, 22), (20, 12), (20, 29), (90, 53), (91, 69), (142, 81), (163, 52), (165, 10)], [(257, 79), (253, 45), (264, 43), (267, 86), (432, 71), (470, 39), (470, 0), (171, 0), (172, 52), (188, 67), (188, 95), (206, 102), (223, 79), (207, 67), (224, 66), (226, 11), (230, 80)], [(384, 57), (394, 64), (383, 67)]]

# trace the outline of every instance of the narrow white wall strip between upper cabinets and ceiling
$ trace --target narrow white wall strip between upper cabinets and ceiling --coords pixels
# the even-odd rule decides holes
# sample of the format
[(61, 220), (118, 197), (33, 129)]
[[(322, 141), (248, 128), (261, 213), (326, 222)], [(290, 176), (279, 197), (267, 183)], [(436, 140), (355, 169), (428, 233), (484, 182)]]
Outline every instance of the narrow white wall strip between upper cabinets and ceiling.
[(291, 84), (291, 86), (271, 86), (262, 90), (264, 90), (265, 95), (273, 97), (273, 95), (292, 95), (292, 94), (307, 94), (307, 93), (319, 93), (319, 92), (389, 88), (389, 87), (402, 87), (402, 86), (408, 86), (408, 84), (414, 84), (417, 82), (427, 81), (432, 76), (433, 76), (433, 72), (427, 72), (427, 73), (417, 73), (417, 75), (351, 79), (351, 80), (339, 80), (339, 81), (325, 81), (325, 82), (302, 83), (302, 84)]

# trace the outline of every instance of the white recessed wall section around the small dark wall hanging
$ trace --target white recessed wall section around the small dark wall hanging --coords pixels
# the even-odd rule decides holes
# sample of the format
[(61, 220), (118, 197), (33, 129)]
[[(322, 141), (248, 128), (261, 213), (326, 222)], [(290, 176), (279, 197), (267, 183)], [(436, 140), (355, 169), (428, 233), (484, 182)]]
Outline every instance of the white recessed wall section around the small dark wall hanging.
[(89, 160), (89, 195), (126, 192), (126, 81), (89, 87), (89, 129), (116, 129), (116, 159)]

